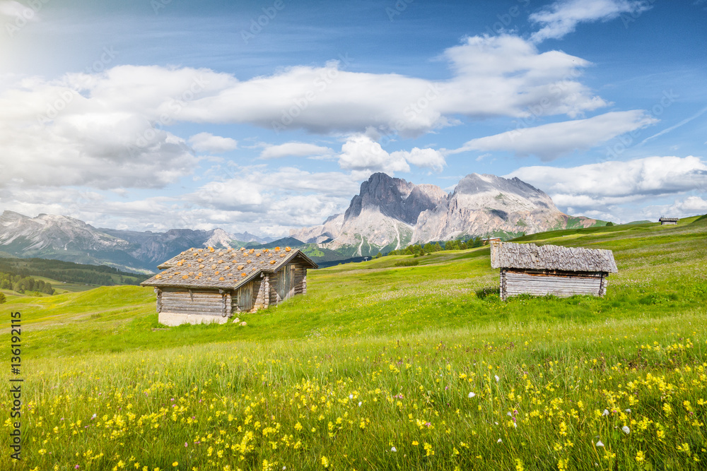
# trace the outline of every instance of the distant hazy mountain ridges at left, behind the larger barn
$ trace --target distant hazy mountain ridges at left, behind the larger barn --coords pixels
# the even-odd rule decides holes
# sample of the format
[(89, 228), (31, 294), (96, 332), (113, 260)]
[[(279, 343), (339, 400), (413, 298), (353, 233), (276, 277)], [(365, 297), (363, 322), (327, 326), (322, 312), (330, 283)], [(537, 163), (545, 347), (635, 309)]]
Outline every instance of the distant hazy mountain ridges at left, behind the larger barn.
[(154, 271), (160, 262), (190, 247), (228, 247), (238, 240), (237, 235), (249, 239), (243, 242), (265, 242), (252, 234), (228, 234), (222, 229), (136, 232), (96, 229), (68, 216), (28, 217), (13, 211), (0, 215), (0, 251), (18, 257), (107, 263), (127, 270)]

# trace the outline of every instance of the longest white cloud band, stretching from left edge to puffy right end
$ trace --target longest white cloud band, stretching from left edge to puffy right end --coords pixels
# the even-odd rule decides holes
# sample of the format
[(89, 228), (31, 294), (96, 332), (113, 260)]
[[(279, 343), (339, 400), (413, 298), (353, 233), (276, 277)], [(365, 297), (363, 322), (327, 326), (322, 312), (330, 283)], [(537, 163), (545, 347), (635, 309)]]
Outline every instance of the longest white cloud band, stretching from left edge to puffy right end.
[(547, 105), (543, 114), (570, 117), (607, 105), (578, 81), (588, 61), (541, 53), (517, 36), (469, 37), (442, 57), (450, 68), (450, 78), (442, 81), (345, 71), (337, 61), (247, 81), (209, 69), (115, 66), (16, 83), (0, 97), (2, 119), (13, 131), (38, 116), (58, 124), (73, 113), (141, 120), (156, 129), (178, 121), (247, 123), (277, 133), (368, 130), (407, 137), (451, 126), (462, 116), (527, 117), (539, 102)]

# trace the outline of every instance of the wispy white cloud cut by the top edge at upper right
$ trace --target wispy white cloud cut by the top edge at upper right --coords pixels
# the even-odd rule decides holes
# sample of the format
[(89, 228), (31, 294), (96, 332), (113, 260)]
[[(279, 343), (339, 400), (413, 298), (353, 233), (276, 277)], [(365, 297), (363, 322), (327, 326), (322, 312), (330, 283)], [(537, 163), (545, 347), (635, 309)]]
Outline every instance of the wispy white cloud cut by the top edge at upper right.
[(594, 21), (609, 21), (627, 13), (636, 15), (650, 8), (643, 0), (560, 0), (532, 13), (529, 19), (532, 23), (542, 25), (530, 39), (542, 42), (547, 39), (559, 39), (573, 32), (578, 23)]

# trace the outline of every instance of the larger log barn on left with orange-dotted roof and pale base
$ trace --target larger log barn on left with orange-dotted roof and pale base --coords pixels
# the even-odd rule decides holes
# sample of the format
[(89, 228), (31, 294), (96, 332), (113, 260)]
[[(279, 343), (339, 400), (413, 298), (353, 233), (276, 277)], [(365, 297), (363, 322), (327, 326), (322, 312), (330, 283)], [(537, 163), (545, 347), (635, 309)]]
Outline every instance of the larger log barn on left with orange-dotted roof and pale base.
[(255, 312), (307, 292), (307, 269), (317, 268), (297, 249), (192, 248), (158, 266), (141, 283), (155, 287), (159, 321), (224, 323), (238, 312)]

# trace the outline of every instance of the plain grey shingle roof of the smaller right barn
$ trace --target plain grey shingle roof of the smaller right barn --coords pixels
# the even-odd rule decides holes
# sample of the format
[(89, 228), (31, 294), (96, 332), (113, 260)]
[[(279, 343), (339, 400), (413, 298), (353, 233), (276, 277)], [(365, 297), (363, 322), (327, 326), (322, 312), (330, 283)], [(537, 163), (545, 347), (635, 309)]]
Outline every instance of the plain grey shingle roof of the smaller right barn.
[(491, 268), (619, 273), (610, 250), (513, 242), (491, 244)]

